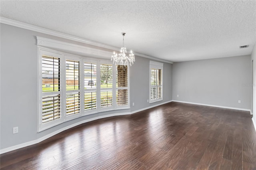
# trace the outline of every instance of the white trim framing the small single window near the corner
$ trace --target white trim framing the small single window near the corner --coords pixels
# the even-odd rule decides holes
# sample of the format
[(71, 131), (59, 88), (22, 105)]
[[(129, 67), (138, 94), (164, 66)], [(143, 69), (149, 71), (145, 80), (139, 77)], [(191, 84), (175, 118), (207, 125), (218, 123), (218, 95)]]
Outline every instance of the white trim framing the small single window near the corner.
[[(162, 69), (162, 98), (151, 100), (151, 69)], [(149, 61), (149, 103), (162, 101), (164, 96), (164, 63)]]

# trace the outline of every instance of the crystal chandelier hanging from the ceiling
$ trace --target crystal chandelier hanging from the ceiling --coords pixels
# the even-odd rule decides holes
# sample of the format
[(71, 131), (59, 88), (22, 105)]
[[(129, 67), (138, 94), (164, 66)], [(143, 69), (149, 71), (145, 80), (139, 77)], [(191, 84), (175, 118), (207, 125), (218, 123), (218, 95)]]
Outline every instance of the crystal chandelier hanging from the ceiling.
[(126, 55), (127, 51), (126, 51), (126, 47), (124, 46), (124, 35), (125, 32), (121, 33), (123, 36), (123, 47), (121, 47), (120, 53), (117, 56), (117, 53), (115, 53), (111, 56), (111, 61), (113, 61), (113, 63), (115, 63), (116, 65), (128, 65), (128, 61), (130, 63), (130, 66), (132, 66), (133, 62), (135, 61), (134, 58), (134, 54), (131, 53), (129, 54), (129, 56)]

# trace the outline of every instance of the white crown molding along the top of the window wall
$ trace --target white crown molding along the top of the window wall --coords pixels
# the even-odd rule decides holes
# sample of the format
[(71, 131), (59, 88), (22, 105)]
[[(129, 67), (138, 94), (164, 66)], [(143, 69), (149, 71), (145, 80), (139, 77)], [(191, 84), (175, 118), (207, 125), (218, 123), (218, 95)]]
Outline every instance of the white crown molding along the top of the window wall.
[[(68, 34), (61, 33), (61, 32), (56, 32), (56, 31), (53, 31), (53, 30), (48, 30), (46, 28), (41, 28), (41, 27), (38, 27), (38, 26), (33, 26), (31, 24), (26, 24), (24, 22), (19, 22), (19, 21), (16, 21), (16, 20), (11, 20), (11, 19), (4, 18), (4, 17), (0, 17), (0, 23), (11, 25), (11, 26), (16, 26), (16, 27), (19, 27), (19, 28), (24, 28), (24, 29), (31, 30), (31, 31), (40, 32), (40, 33), (43, 33), (43, 34), (48, 34), (48, 35), (51, 35), (51, 36), (65, 38), (65, 39), (73, 40), (73, 41), (76, 41), (76, 42), (82, 42), (82, 43), (86, 43), (86, 44), (90, 44), (90, 45), (95, 45), (95, 46), (106, 48), (106, 49), (112, 49), (112, 50), (115, 50), (115, 51), (119, 51), (120, 50), (120, 48), (118, 48), (118, 47), (114, 47), (114, 46), (111, 46), (111, 45), (106, 45), (104, 43), (98, 43), (98, 42), (94, 42), (94, 41), (91, 41), (91, 40), (86, 40), (84, 38), (79, 38), (79, 37), (71, 36), (71, 35), (68, 35)], [(148, 58), (148, 59), (154, 59), (154, 60), (157, 60), (157, 61), (162, 61), (162, 62), (165, 62), (165, 63), (173, 64), (173, 62), (171, 62), (171, 61), (167, 61), (167, 60), (163, 60), (163, 59), (158, 59), (158, 58), (155, 58), (155, 57), (151, 57), (151, 56), (140, 54), (140, 53), (136, 53), (136, 52), (134, 53), (134, 55), (138, 55), (140, 57), (145, 57), (145, 58)]]

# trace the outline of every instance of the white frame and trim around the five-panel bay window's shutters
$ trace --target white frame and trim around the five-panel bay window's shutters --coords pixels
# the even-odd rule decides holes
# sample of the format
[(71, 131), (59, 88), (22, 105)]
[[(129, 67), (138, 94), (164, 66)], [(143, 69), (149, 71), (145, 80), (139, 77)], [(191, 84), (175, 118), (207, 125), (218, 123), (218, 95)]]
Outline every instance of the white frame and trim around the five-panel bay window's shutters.
[[(52, 55), (52, 53), (56, 54), (54, 57), (60, 58), (60, 84), (61, 84), (61, 117), (60, 119), (57, 119), (55, 121), (50, 121), (46, 124), (42, 123), (42, 55)], [(69, 93), (71, 91), (66, 91), (66, 69), (63, 69), (64, 66), (66, 66), (66, 59), (73, 59), (80, 62), (80, 113), (75, 114), (72, 116), (66, 116), (66, 93)], [(128, 71), (127, 71), (127, 78), (128, 78), (128, 105), (125, 106), (116, 106), (116, 83), (114, 83), (112, 90), (113, 90), (113, 106), (107, 107), (107, 108), (100, 108), (100, 97), (98, 97), (98, 94), (100, 94), (100, 88), (96, 88), (97, 91), (97, 109), (96, 111), (87, 112), (84, 111), (84, 61), (92, 61), (97, 64), (97, 82), (100, 82), (100, 63), (104, 64), (111, 64), (113, 65), (113, 82), (116, 81), (116, 65), (113, 64), (109, 60), (104, 59), (96, 59), (91, 57), (83, 57), (79, 55), (73, 55), (61, 51), (56, 51), (54, 49), (49, 49), (46, 47), (42, 47), (38, 45), (38, 132), (41, 132), (43, 130), (46, 130), (48, 128), (54, 127), (56, 125), (59, 125), (61, 123), (64, 123), (66, 121), (70, 121), (73, 119), (76, 119), (78, 117), (86, 116), (86, 115), (92, 115), (95, 113), (101, 113), (106, 111), (113, 111), (113, 110), (122, 110), (122, 109), (130, 109), (130, 65), (128, 65)]]

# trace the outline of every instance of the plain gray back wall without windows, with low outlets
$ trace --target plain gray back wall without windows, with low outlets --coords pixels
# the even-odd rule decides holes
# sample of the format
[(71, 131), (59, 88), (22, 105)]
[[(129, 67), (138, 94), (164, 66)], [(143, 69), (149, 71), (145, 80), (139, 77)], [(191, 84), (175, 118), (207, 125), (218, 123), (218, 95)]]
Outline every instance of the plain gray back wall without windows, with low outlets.
[(172, 99), (251, 109), (250, 60), (246, 55), (174, 63)]

